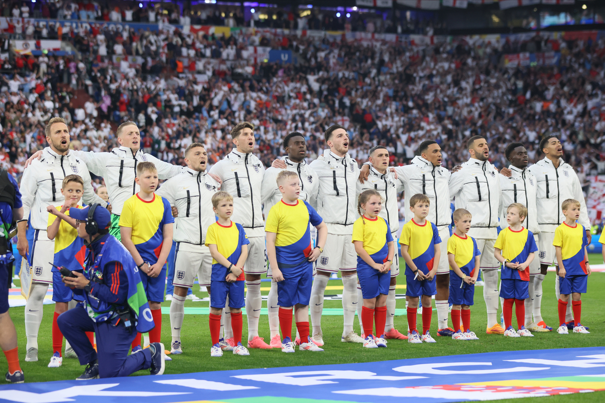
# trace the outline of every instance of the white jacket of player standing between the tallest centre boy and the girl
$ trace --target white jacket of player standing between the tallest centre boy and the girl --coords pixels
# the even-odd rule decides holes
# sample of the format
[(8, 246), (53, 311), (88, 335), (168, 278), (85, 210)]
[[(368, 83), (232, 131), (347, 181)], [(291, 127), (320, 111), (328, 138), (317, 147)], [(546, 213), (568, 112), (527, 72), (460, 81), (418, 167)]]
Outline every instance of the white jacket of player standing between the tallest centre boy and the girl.
[(319, 176), (317, 212), (329, 234), (352, 235), (357, 219), (359, 166), (350, 155), (336, 156), (329, 149), (310, 164)]

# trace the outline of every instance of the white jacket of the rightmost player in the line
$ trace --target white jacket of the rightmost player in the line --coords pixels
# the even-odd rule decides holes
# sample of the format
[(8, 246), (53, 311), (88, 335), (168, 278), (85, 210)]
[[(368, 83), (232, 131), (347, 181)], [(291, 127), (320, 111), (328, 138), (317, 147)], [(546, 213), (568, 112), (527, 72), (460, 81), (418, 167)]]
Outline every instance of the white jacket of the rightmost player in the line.
[[(554, 232), (558, 225), (565, 221), (561, 210), (561, 203), (565, 199), (576, 199), (580, 202), (578, 221), (584, 228), (590, 228), (580, 179), (571, 165), (559, 158), (559, 166), (555, 169), (552, 161), (544, 158), (529, 167), (529, 172), (534, 174), (538, 182), (536, 206), (540, 231)], [(558, 211), (558, 214), (555, 211)]]

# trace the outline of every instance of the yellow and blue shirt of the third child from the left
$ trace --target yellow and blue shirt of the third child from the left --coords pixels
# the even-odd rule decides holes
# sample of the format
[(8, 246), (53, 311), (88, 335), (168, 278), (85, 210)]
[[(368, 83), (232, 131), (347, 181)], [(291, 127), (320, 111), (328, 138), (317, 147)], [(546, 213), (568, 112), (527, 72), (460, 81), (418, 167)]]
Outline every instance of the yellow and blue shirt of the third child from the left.
[[(218, 253), (226, 257), (229, 262), (237, 265), (238, 259), (241, 255), (242, 245), (249, 244), (250, 241), (246, 236), (246, 231), (241, 224), (231, 222), (231, 225), (220, 225), (218, 222), (211, 224), (206, 231), (206, 243), (205, 245), (217, 245)], [(212, 259), (212, 274), (210, 280), (212, 281), (225, 281), (227, 277), (227, 268), (218, 263), (214, 258)], [(244, 271), (241, 271), (240, 276), (237, 280), (244, 280)]]

